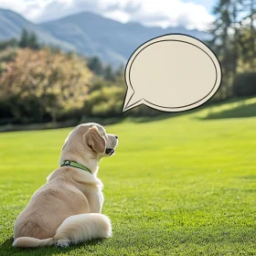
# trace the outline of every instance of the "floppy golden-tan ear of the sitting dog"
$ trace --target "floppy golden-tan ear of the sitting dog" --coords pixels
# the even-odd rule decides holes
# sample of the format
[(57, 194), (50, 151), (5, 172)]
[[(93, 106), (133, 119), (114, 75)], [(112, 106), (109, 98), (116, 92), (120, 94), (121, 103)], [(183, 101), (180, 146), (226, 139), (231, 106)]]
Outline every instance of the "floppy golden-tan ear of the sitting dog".
[(83, 142), (90, 146), (93, 151), (104, 154), (106, 142), (98, 131), (97, 126), (92, 126), (87, 133), (83, 135)]

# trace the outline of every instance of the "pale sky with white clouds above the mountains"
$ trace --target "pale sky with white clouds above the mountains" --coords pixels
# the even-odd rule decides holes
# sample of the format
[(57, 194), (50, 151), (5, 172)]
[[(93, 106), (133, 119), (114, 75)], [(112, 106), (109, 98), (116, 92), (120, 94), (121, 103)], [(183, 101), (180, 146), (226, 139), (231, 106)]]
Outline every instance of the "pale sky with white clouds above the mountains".
[(0, 8), (11, 9), (40, 23), (82, 11), (144, 26), (204, 30), (213, 21), (217, 0), (0, 0)]

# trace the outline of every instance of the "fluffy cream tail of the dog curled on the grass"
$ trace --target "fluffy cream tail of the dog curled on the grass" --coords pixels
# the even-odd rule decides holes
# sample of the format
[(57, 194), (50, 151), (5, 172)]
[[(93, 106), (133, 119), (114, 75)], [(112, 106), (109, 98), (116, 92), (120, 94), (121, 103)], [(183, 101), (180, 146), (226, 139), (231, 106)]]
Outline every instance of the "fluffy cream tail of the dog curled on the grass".
[(68, 247), (70, 243), (93, 240), (99, 238), (110, 238), (112, 236), (112, 225), (110, 219), (100, 213), (88, 213), (73, 215), (65, 219), (56, 231), (53, 238), (38, 240), (29, 237), (17, 238), (15, 247), (42, 247), (56, 245)]

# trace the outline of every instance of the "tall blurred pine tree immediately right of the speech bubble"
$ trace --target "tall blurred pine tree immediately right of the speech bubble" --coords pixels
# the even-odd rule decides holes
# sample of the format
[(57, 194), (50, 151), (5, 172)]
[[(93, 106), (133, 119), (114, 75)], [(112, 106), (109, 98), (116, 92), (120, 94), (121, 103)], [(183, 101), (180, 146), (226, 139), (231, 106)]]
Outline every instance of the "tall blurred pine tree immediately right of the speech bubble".
[(240, 50), (239, 17), (241, 11), (240, 0), (219, 0), (214, 8), (216, 20), (210, 30), (213, 35), (209, 42), (211, 48), (219, 56), (223, 82), (220, 98), (228, 98), (232, 94), (232, 81), (237, 73)]

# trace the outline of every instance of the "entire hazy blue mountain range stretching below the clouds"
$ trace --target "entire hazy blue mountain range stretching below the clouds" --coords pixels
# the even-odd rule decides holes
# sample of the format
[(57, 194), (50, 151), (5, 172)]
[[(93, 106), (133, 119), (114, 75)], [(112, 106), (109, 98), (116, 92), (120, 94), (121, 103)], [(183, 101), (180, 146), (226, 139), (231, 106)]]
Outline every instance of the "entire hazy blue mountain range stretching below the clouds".
[(66, 16), (43, 24), (33, 24), (16, 13), (0, 9), (0, 40), (19, 37), (22, 28), (37, 33), (41, 43), (98, 56), (114, 66), (125, 64), (133, 51), (154, 37), (183, 33), (199, 39), (208, 34), (184, 27), (144, 27), (138, 23), (120, 23), (90, 12)]

